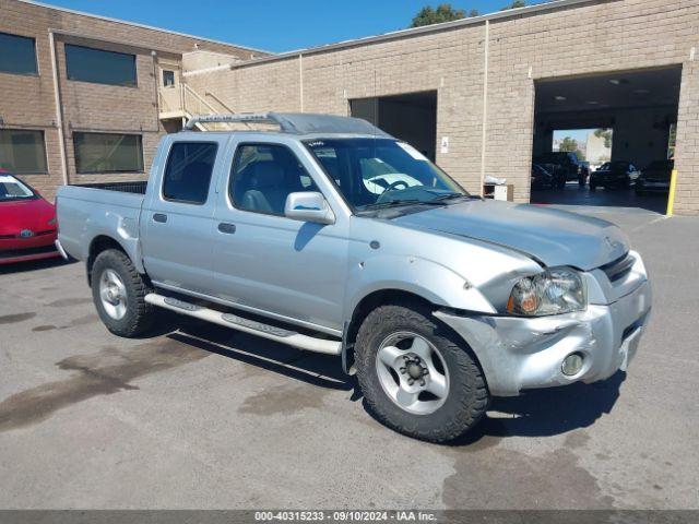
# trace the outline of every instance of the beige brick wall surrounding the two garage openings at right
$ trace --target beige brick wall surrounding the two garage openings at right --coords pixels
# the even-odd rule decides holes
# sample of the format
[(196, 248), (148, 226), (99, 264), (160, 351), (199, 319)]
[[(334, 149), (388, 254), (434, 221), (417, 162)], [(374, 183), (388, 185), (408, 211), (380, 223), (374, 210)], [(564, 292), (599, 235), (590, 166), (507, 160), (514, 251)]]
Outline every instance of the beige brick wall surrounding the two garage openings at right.
[[(477, 191), (483, 133), (485, 24), (305, 55), (299, 59), (188, 76), (236, 111), (347, 114), (347, 99), (438, 91), (437, 162)], [(676, 167), (677, 213), (699, 214), (699, 2), (597, 0), (489, 24), (485, 174), (514, 182), (529, 201), (534, 82), (538, 79), (682, 64)]]

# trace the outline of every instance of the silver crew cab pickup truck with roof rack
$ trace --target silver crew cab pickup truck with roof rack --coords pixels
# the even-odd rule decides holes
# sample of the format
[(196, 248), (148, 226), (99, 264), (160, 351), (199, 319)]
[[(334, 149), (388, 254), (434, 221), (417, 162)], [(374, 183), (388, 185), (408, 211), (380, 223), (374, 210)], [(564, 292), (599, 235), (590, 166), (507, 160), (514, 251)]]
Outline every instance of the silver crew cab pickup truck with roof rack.
[(188, 127), (212, 122), (274, 130), (186, 129), (143, 191), (58, 192), (59, 249), (85, 261), (112, 333), (141, 335), (165, 308), (341, 356), (379, 420), (434, 442), (491, 396), (603, 380), (633, 357), (651, 287), (615, 225), (471, 195), (364, 120)]

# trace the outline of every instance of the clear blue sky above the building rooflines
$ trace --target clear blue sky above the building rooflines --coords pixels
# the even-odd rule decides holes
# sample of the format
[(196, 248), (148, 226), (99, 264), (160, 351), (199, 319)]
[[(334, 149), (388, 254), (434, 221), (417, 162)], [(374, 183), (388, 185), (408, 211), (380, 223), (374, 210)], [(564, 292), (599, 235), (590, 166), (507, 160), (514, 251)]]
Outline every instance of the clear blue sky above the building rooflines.
[[(436, 5), (439, 0), (46, 0), (45, 3), (270, 51), (289, 51), (405, 28), (422, 7)], [(451, 2), (466, 12), (477, 9), (481, 14), (499, 11), (507, 3), (508, 0)]]

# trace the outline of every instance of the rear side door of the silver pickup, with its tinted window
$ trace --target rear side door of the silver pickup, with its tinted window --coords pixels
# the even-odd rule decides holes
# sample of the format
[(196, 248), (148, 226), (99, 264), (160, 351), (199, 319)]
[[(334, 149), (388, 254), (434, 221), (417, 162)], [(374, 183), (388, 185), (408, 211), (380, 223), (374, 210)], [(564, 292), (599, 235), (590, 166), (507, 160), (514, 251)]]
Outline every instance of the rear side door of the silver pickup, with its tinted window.
[(166, 139), (141, 212), (141, 249), (151, 279), (211, 293), (215, 180), (227, 140), (201, 133)]

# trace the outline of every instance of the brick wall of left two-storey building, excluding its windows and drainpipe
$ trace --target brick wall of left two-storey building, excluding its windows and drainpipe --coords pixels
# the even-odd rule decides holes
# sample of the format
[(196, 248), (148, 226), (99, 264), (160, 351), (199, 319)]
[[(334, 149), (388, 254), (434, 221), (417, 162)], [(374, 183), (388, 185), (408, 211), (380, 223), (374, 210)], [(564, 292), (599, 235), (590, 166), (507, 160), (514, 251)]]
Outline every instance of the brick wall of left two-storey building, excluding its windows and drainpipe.
[[(156, 50), (161, 57), (175, 59), (179, 59), (182, 52), (194, 50), (196, 45), (202, 50), (227, 53), (237, 59), (249, 59), (251, 55), (260, 55), (246, 48), (164, 31), (79, 15), (17, 0), (0, 0), (0, 32), (36, 39), (39, 73), (38, 76), (0, 73), (0, 93), (2, 93), (0, 116), (7, 128), (39, 129), (45, 132), (49, 172), (48, 175), (27, 175), (24, 178), (49, 199), (54, 198), (56, 188), (62, 183), (49, 29), (57, 32), (56, 57), (63, 104), (69, 179), (75, 183), (132, 180), (145, 176), (143, 174), (76, 175), (72, 130), (142, 134), (144, 165), (147, 170), (157, 141), (163, 133), (155, 105), (152, 49)], [(67, 34), (82, 35), (83, 38)], [(64, 41), (135, 55), (138, 87), (68, 81), (63, 53)], [(122, 44), (112, 44), (114, 41)]]

